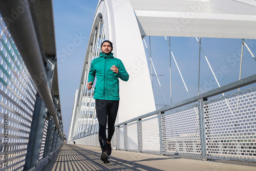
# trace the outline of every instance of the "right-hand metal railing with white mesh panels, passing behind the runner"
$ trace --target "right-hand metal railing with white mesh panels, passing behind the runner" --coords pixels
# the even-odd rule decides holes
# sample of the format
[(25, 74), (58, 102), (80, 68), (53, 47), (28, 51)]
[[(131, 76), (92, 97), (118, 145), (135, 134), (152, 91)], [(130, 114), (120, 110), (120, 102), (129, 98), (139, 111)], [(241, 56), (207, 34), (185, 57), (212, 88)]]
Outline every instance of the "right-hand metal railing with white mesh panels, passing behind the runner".
[[(255, 82), (252, 75), (117, 124), (112, 145), (125, 151), (255, 162)], [(247, 85), (251, 88), (232, 91)], [(97, 132), (75, 142), (100, 146)]]

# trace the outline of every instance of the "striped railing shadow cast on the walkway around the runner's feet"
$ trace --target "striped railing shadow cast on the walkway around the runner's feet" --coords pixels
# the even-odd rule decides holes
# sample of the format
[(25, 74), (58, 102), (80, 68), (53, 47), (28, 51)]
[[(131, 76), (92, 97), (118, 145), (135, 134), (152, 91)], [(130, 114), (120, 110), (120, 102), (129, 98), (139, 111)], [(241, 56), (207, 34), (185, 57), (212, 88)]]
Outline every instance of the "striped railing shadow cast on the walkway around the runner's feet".
[[(125, 161), (111, 156), (111, 162), (104, 164), (99, 159), (101, 149), (90, 151), (77, 145), (63, 145), (60, 151), (53, 157), (44, 171), (48, 170), (156, 170), (161, 169), (149, 167), (146, 165)], [(148, 161), (157, 160), (157, 158), (148, 159)]]

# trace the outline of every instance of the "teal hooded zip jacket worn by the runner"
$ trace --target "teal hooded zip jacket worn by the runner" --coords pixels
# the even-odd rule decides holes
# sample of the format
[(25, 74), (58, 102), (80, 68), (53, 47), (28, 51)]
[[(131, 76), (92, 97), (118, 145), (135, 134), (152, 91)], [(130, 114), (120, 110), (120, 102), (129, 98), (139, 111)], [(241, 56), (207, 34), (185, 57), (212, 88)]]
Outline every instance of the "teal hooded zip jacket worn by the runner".
[[(119, 70), (118, 74), (110, 68), (116, 66)], [(88, 82), (94, 82), (96, 76), (96, 86), (94, 88), (94, 99), (101, 100), (119, 100), (119, 80), (129, 79), (123, 63), (120, 59), (114, 58), (113, 53), (105, 54), (100, 52), (98, 58), (93, 59), (91, 70), (89, 72)]]

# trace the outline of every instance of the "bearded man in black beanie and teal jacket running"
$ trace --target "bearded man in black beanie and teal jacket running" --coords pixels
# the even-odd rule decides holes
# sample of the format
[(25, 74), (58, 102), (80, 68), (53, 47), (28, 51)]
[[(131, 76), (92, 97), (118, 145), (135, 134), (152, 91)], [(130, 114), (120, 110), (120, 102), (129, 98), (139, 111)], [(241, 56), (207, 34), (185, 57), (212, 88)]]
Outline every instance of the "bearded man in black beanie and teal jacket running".
[[(93, 59), (87, 83), (88, 90), (93, 88), (95, 76), (97, 78), (94, 89), (95, 108), (99, 122), (99, 143), (101, 147), (100, 159), (109, 163), (111, 155), (111, 139), (115, 132), (115, 121), (119, 106), (119, 78), (123, 81), (129, 79), (124, 65), (120, 59), (113, 56), (113, 44), (105, 40), (101, 44), (98, 58)], [(108, 122), (108, 138), (106, 137), (106, 124)]]

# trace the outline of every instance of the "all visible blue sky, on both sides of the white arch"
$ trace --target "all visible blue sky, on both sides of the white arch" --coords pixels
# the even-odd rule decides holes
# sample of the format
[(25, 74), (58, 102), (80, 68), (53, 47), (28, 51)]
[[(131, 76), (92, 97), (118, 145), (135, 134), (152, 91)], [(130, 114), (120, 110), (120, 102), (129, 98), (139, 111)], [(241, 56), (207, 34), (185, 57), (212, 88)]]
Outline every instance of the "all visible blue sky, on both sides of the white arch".
[[(86, 54), (88, 39), (98, 1), (53, 1), (57, 47), (58, 79), (64, 133), (68, 135), (75, 91), (78, 89)], [(168, 38), (168, 37), (167, 37)], [(149, 47), (148, 36), (145, 37)], [(199, 46), (195, 37), (171, 37), (170, 45), (191, 97), (198, 93)], [(245, 40), (256, 56), (256, 40)], [(214, 72), (219, 73), (219, 83), (239, 79), (241, 39), (202, 38), (203, 50)], [(151, 37), (152, 60), (159, 76), (167, 104), (170, 104), (169, 48), (164, 37)], [(246, 49), (246, 48), (245, 48)], [(147, 55), (147, 61), (149, 55)], [(189, 98), (172, 57), (173, 103)], [(256, 62), (244, 51), (242, 78), (256, 74)], [(153, 73), (155, 74), (155, 73)], [(201, 93), (218, 87), (201, 52)], [(164, 98), (153, 78), (153, 90), (157, 104), (165, 104)], [(158, 106), (156, 107), (158, 108)], [(161, 108), (161, 106), (160, 106)]]

